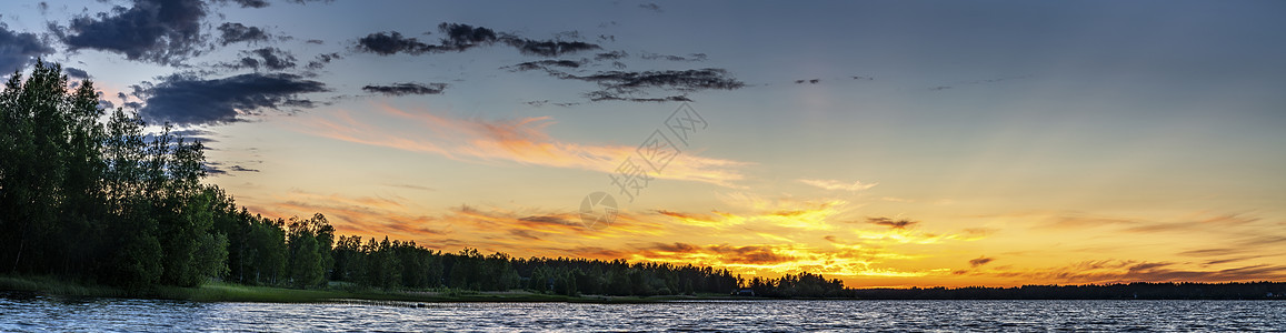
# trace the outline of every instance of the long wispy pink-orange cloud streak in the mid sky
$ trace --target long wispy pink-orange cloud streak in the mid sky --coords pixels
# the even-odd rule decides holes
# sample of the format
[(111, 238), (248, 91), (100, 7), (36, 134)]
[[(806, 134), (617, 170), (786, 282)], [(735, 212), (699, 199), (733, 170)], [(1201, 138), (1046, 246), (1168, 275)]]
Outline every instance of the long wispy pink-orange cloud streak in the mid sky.
[[(580, 168), (612, 174), (625, 157), (635, 154), (631, 145), (588, 145), (559, 141), (545, 127), (549, 117), (517, 120), (459, 120), (430, 112), (406, 112), (383, 105), (367, 117), (385, 117), (415, 126), (408, 130), (376, 129), (358, 121), (347, 112), (333, 120), (318, 118), (302, 123), (306, 132), (336, 140), (390, 147), (408, 152), (431, 153), (457, 161), (494, 163), (508, 161), (521, 165)], [(674, 158), (660, 179), (702, 181), (730, 186), (743, 175), (737, 170), (746, 162), (707, 158), (684, 153)]]

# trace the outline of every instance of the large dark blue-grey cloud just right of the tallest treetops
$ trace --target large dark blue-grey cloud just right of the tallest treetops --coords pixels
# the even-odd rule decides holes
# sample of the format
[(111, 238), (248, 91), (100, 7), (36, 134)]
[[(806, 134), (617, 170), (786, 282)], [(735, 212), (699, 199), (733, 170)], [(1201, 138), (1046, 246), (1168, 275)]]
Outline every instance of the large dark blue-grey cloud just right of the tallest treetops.
[(176, 75), (141, 91), (147, 95), (147, 105), (139, 113), (153, 123), (229, 123), (237, 122), (239, 114), (261, 109), (312, 107), (311, 100), (296, 96), (319, 91), (328, 89), (322, 82), (287, 73), (249, 73), (213, 80)]

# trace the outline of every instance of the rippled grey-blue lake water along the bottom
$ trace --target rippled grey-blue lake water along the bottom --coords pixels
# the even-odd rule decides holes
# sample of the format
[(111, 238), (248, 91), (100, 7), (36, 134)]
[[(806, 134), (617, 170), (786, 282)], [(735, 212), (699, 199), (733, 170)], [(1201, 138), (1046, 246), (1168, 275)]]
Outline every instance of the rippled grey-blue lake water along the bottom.
[(1286, 332), (1283, 301), (199, 303), (0, 294), (0, 332)]

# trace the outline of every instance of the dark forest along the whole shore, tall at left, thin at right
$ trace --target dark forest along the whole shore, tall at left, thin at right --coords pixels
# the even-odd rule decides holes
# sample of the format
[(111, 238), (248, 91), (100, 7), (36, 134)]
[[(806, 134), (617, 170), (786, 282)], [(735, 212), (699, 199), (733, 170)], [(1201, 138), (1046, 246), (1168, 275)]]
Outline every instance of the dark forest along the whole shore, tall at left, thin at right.
[[(1283, 283), (850, 289), (800, 273), (742, 279), (706, 266), (511, 257), (336, 235), (325, 216), (269, 219), (202, 184), (201, 141), (105, 111), (90, 80), (37, 60), (0, 93), (0, 273), (126, 289), (225, 282), (324, 288), (529, 289), (556, 294), (809, 298), (1280, 298)], [(105, 117), (105, 122), (102, 120)]]

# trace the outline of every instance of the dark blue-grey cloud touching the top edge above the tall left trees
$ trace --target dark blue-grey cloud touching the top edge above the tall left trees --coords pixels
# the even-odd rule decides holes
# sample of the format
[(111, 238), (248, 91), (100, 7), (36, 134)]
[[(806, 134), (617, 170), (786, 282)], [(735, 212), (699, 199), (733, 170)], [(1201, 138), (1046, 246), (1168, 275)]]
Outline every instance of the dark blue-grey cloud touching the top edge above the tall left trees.
[(94, 49), (125, 54), (130, 60), (176, 64), (199, 54), (201, 0), (134, 0), (112, 13), (77, 17), (64, 30), (53, 27), (72, 50)]

